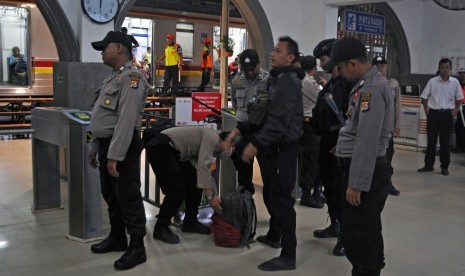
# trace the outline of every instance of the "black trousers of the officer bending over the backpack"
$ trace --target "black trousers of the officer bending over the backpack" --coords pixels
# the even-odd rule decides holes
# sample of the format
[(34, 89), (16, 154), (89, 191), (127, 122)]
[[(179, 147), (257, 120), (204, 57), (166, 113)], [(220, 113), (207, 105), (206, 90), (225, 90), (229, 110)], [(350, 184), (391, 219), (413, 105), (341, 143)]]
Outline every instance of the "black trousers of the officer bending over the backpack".
[(148, 146), (146, 150), (147, 159), (165, 195), (157, 225), (168, 226), (183, 201), (186, 213), (197, 214), (202, 198), (202, 190), (197, 188), (197, 170), (189, 161), (179, 161), (178, 153), (168, 142)]

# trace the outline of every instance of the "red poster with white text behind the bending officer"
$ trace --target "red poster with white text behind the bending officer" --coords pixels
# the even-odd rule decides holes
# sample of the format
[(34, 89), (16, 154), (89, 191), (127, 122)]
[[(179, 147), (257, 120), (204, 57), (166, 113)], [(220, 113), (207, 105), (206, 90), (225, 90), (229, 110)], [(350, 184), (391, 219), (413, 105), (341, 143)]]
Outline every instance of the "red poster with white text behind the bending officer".
[(203, 121), (208, 115), (221, 117), (211, 108), (221, 110), (221, 93), (194, 92), (192, 93), (192, 121)]

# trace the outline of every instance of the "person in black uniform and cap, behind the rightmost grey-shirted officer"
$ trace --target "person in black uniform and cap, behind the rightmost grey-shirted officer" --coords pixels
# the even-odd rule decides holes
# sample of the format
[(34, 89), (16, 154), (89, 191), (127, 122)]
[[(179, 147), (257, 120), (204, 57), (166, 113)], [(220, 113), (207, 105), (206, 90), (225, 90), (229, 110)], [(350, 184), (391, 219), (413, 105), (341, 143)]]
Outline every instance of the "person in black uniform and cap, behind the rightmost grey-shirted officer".
[[(341, 236), (341, 169), (338, 166), (333, 148), (337, 144), (339, 130), (345, 124), (348, 109), (349, 94), (354, 82), (347, 81), (340, 74), (337, 64), (330, 61), (335, 38), (325, 39), (318, 43), (313, 54), (320, 60), (320, 66), (326, 73), (331, 74), (331, 79), (324, 85), (318, 94), (318, 99), (313, 109), (312, 125), (314, 131), (321, 135), (318, 165), (320, 179), (324, 186), (324, 195), (328, 205), (330, 225), (324, 229), (313, 231), (316, 238), (337, 237), (333, 254), (344, 256), (344, 245)], [(318, 188), (317, 188), (318, 189)], [(316, 189), (315, 189), (316, 190)], [(314, 204), (318, 203), (319, 193), (313, 193)], [(320, 203), (321, 204), (321, 203)], [(321, 204), (323, 205), (323, 204)]]

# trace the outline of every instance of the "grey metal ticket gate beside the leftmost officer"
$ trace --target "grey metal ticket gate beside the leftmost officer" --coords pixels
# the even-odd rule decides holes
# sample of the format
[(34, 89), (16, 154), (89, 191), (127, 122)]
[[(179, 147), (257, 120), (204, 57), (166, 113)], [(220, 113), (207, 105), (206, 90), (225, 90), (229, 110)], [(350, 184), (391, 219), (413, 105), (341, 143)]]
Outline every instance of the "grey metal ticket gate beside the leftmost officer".
[(71, 240), (102, 237), (100, 178), (87, 161), (91, 112), (63, 107), (32, 110), (33, 211), (61, 208), (59, 147), (65, 148)]

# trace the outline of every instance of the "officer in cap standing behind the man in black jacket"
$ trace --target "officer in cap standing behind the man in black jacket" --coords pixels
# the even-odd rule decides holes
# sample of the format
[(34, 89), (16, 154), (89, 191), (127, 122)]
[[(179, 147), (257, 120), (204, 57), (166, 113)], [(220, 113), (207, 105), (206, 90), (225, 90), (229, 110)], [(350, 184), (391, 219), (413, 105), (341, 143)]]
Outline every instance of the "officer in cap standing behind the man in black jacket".
[[(241, 71), (231, 81), (231, 102), (236, 110), (238, 124), (246, 124), (248, 120), (247, 104), (257, 94), (257, 91), (266, 91), (270, 74), (260, 68), (260, 59), (257, 51), (246, 49), (239, 56)], [(229, 142), (239, 132), (236, 128), (229, 136)], [(241, 134), (242, 139), (236, 144), (236, 152), (231, 156), (237, 169), (239, 185), (252, 194), (255, 188), (252, 183), (253, 160), (244, 163), (241, 159), (244, 147), (250, 142), (247, 132)]]

